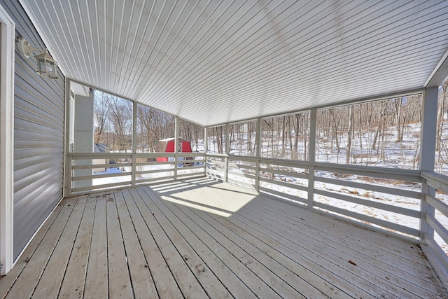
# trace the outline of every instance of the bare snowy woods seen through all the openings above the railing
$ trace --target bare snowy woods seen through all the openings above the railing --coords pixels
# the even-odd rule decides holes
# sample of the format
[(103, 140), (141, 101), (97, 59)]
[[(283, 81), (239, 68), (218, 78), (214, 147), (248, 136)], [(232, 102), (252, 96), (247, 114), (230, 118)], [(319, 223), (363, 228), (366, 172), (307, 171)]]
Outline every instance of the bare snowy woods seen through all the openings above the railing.
[[(316, 161), (416, 169), (422, 95), (318, 109)], [(110, 151), (131, 151), (132, 102), (95, 92), (94, 142)], [(174, 116), (137, 104), (137, 151), (154, 152), (160, 139), (174, 137)], [(262, 119), (263, 158), (309, 160), (308, 111)], [(204, 150), (204, 128), (179, 121), (180, 137), (193, 151)], [(257, 121), (229, 125), (230, 154), (254, 156)], [(207, 128), (209, 151), (225, 152), (225, 125)], [(440, 88), (437, 111), (436, 171), (448, 168), (448, 83)]]

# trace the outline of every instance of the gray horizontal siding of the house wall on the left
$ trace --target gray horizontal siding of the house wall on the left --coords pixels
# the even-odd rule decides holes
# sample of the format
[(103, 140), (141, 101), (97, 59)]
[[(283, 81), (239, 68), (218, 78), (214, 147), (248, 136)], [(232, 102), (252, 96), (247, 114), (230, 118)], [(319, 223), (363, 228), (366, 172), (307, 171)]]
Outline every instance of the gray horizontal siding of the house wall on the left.
[[(2, 1), (15, 20), (16, 37), (45, 48), (18, 1)], [(15, 53), (14, 258), (62, 198), (64, 167), (64, 76), (36, 74), (36, 60)]]

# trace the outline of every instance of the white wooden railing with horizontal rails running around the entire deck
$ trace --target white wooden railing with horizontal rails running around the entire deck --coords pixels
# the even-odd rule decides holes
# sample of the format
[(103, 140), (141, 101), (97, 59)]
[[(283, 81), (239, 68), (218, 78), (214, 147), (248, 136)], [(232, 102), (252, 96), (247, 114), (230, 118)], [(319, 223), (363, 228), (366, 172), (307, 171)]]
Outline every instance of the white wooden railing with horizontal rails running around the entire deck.
[[(171, 159), (157, 162), (160, 156)], [(448, 204), (434, 191), (448, 194), (448, 180), (433, 172), (209, 153), (70, 153), (69, 161), (67, 195), (210, 176), (386, 235), (428, 244), (448, 269), (448, 229), (435, 216), (448, 217)], [(93, 169), (111, 167), (121, 171), (92, 174)], [(88, 174), (80, 172), (85, 169)], [(113, 182), (95, 183), (99, 179)], [(430, 192), (423, 192), (422, 186), (429, 186)]]

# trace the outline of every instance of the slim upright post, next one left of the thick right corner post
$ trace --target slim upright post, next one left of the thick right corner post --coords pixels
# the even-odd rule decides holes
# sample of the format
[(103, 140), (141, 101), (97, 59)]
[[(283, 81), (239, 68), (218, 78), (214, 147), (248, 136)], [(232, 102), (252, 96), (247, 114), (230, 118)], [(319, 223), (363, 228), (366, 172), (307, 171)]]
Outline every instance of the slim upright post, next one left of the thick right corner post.
[(309, 112), (309, 142), (308, 142), (308, 201), (307, 209), (314, 207), (314, 162), (316, 161), (316, 120), (317, 109)]

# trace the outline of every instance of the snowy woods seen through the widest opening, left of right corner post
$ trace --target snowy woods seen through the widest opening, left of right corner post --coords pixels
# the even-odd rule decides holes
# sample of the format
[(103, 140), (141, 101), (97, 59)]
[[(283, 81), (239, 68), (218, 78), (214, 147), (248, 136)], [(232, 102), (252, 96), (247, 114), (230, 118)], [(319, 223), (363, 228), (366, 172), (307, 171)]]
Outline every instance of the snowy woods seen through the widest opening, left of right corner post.
[(319, 110), (316, 160), (416, 168), (422, 100), (411, 95)]

